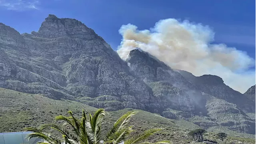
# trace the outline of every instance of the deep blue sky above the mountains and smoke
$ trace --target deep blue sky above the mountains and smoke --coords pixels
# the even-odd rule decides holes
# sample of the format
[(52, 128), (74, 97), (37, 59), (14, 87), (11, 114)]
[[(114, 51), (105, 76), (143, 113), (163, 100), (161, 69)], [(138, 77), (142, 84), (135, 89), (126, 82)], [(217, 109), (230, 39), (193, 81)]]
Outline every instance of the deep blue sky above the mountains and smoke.
[(224, 43), (256, 59), (255, 5), (255, 0), (0, 0), (0, 22), (30, 33), (38, 31), (48, 14), (75, 18), (117, 50), (122, 25), (150, 30), (159, 20), (189, 20), (212, 30), (211, 43)]

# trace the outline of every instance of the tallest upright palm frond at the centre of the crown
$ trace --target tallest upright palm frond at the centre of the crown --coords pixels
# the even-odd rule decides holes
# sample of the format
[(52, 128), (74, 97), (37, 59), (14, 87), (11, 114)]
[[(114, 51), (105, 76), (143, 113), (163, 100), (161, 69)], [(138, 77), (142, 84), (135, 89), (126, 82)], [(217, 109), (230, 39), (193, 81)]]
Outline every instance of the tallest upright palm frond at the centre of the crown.
[(103, 116), (105, 116), (104, 109), (100, 108), (94, 113), (93, 116), (91, 114), (89, 114), (89, 116), (90, 116), (91, 129), (94, 135), (93, 142), (94, 144), (98, 144), (100, 142), (101, 124), (102, 124)]

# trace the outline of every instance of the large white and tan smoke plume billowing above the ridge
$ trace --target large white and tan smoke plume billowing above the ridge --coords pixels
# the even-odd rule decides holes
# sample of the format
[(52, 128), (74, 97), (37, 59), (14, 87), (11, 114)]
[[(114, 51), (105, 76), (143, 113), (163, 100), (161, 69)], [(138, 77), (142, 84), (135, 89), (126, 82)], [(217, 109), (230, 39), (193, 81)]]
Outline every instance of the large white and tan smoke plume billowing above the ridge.
[(256, 83), (256, 64), (246, 52), (225, 44), (212, 44), (214, 32), (202, 24), (176, 19), (160, 20), (150, 30), (138, 30), (132, 24), (123, 25), (118, 54), (126, 60), (131, 50), (140, 48), (171, 68), (186, 70), (195, 76), (212, 74), (239, 92), (246, 92)]

